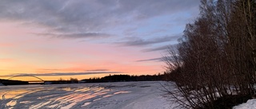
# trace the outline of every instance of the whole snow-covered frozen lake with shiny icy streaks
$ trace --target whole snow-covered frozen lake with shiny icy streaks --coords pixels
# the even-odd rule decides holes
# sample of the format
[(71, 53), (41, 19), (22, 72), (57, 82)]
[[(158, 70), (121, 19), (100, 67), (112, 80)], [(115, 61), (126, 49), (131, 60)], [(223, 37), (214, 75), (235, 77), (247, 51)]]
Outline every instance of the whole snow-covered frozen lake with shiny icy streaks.
[(162, 81), (0, 86), (0, 108), (167, 109)]

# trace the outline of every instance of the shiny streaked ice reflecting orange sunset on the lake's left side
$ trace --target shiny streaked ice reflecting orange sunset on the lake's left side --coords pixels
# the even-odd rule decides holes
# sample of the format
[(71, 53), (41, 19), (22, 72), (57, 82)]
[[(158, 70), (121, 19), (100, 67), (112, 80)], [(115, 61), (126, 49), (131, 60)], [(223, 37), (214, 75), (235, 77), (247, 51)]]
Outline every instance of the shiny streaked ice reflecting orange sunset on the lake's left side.
[(90, 103), (130, 91), (108, 86), (85, 84), (31, 85), (1, 87), (1, 108), (72, 108), (86, 107)]

